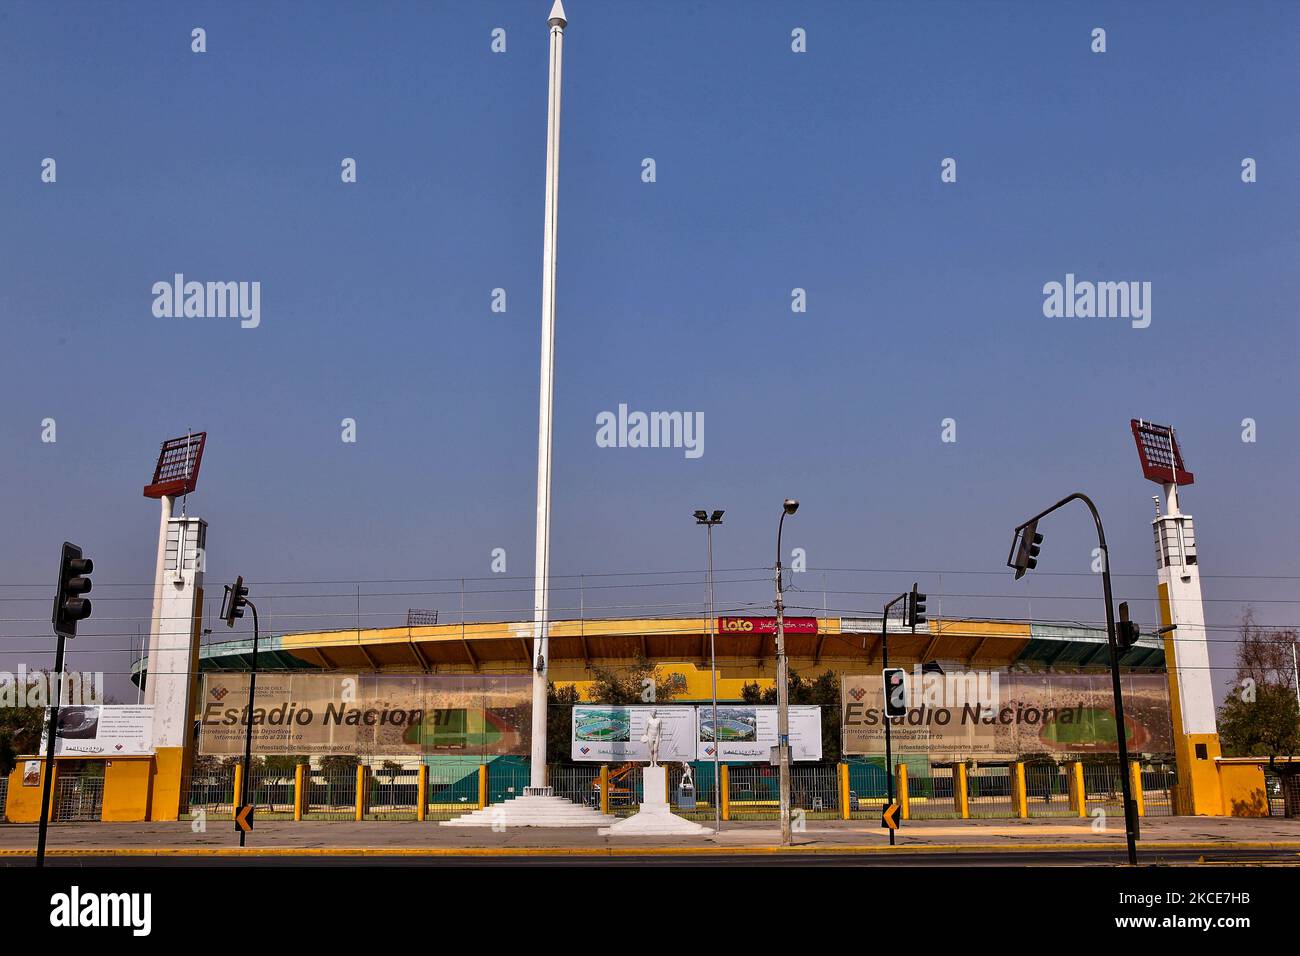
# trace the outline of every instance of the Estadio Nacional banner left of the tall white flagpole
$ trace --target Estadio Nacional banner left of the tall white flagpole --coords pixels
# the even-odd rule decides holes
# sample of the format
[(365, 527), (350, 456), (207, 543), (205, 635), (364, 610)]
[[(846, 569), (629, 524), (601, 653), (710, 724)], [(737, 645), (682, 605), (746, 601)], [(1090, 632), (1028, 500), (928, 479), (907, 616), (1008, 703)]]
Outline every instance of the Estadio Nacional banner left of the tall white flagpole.
[[(257, 675), (259, 754), (526, 754), (532, 675)], [(247, 674), (204, 674), (199, 753), (242, 754)]]

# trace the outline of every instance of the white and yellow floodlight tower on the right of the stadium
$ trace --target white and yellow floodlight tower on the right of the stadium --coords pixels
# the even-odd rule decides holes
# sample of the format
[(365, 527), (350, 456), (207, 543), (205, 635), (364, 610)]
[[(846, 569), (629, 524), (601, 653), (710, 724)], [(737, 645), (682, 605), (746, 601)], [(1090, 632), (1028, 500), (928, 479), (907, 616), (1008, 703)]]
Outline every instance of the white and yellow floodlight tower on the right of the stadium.
[(1169, 672), (1169, 705), (1178, 765), (1178, 812), (1221, 816), (1223, 796), (1218, 767), (1222, 756), (1214, 717), (1214, 683), (1205, 639), (1205, 609), (1201, 604), (1201, 572), (1196, 554), (1192, 516), (1178, 505), (1178, 489), (1195, 476), (1183, 466), (1178, 436), (1169, 425), (1131, 421), (1143, 475), (1165, 492), (1165, 512), (1156, 499), (1157, 597), (1165, 635), (1165, 667)]

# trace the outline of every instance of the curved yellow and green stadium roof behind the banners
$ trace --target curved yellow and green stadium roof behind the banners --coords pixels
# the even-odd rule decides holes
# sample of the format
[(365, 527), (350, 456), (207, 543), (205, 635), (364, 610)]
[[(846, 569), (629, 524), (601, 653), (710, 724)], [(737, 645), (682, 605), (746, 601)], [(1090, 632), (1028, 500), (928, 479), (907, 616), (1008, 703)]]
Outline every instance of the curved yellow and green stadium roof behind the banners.
[[(880, 620), (819, 618), (816, 633), (788, 633), (790, 667), (862, 671), (880, 666)], [(352, 628), (263, 637), (259, 670), (524, 674), (532, 665), (532, 622), (471, 622), (415, 627)], [(708, 663), (703, 618), (556, 620), (550, 630), (552, 671), (625, 663)], [(764, 633), (718, 635), (722, 670), (771, 665), (775, 639)], [(1014, 620), (931, 620), (916, 633), (889, 627), (889, 663), (927, 661), (967, 667), (1076, 670), (1105, 667), (1102, 628), (1070, 623)], [(200, 671), (240, 671), (252, 666), (252, 641), (216, 641), (199, 653)], [(1121, 659), (1126, 670), (1164, 669), (1164, 643), (1143, 635)], [(136, 661), (139, 683), (146, 662)], [(559, 680), (573, 679), (562, 672)]]

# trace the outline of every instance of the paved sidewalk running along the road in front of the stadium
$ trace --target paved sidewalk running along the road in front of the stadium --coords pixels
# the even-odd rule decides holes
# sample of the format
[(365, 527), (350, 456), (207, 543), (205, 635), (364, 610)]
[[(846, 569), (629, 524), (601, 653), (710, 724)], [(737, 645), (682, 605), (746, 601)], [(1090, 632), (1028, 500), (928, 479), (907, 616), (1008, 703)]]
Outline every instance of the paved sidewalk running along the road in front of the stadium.
[[(1122, 821), (1117, 821), (1122, 825)], [(916, 852), (959, 849), (1114, 848), (1123, 845), (1122, 826), (1095, 832), (1089, 822), (1061, 819), (1027, 821), (911, 821), (898, 831), (898, 847), (889, 849), (888, 831), (864, 821), (816, 821), (794, 834), (800, 852)], [(415, 822), (325, 822), (265, 821), (248, 836), (240, 851), (230, 821), (209, 821), (205, 832), (190, 823), (52, 823), (52, 852), (130, 856), (164, 852), (178, 856), (259, 853), (298, 856), (361, 851), (367, 855), (536, 855), (608, 853), (620, 849), (666, 853), (755, 852), (779, 848), (775, 821), (724, 823), (722, 834), (705, 838), (601, 836), (594, 829), (538, 830), (517, 827), (504, 832), (484, 829), (445, 827)], [(34, 853), (35, 825), (0, 825), (0, 856)], [(1221, 817), (1167, 817), (1141, 822), (1141, 843), (1165, 848), (1273, 847), (1300, 851), (1300, 819), (1240, 819)]]

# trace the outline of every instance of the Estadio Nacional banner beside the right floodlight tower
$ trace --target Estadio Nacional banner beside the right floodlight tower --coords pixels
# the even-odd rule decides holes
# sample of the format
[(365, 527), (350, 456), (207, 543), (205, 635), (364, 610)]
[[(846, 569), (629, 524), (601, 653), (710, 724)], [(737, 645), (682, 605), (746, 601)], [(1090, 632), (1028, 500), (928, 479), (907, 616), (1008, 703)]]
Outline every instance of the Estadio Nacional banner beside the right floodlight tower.
[[(894, 718), (893, 752), (931, 760), (1015, 760), (1032, 753), (1115, 753), (1109, 674), (953, 671), (907, 678), (907, 714)], [(1121, 675), (1128, 749), (1169, 753), (1169, 684), (1162, 674)], [(841, 682), (842, 753), (885, 752), (879, 674)]]

